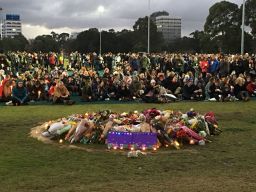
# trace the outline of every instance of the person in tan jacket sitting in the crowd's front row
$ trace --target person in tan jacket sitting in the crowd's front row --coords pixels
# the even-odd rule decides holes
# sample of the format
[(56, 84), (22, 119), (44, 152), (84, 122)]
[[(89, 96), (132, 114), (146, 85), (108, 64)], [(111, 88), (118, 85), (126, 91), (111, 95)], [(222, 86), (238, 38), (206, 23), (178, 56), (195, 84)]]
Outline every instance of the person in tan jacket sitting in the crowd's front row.
[(70, 100), (69, 91), (62, 81), (59, 81), (54, 89), (53, 104), (55, 103), (74, 104), (74, 101)]

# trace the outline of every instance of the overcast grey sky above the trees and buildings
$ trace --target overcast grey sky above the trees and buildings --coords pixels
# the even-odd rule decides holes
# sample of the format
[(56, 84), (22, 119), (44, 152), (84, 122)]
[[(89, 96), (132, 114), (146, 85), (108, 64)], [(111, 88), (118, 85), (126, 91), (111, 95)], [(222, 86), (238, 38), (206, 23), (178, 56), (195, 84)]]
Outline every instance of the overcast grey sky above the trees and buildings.
[[(182, 35), (203, 29), (209, 8), (220, 0), (151, 0), (150, 12), (168, 11), (182, 18)], [(238, 5), (243, 0), (229, 0)], [(105, 10), (99, 13), (98, 7)], [(148, 0), (0, 0), (6, 13), (20, 14), (27, 38), (51, 31), (79, 32), (92, 27), (132, 29), (139, 17), (149, 13)]]

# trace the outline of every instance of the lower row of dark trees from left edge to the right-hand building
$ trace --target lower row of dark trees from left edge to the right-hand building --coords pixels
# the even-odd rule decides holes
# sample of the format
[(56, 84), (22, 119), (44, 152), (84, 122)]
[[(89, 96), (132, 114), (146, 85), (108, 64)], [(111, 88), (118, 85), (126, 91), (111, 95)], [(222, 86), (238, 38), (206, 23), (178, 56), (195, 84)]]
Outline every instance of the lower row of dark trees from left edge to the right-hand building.
[[(133, 30), (122, 30), (115, 32), (114, 29), (102, 31), (102, 52), (129, 52), (147, 50), (147, 17), (139, 18), (133, 26)], [(162, 51), (164, 44), (162, 34), (157, 32), (156, 25), (151, 21), (151, 46), (152, 51)], [(15, 43), (16, 42), (16, 43)], [(0, 47), (7, 50), (29, 50), (29, 51), (60, 51), (65, 50), (79, 52), (99, 51), (99, 30), (91, 28), (79, 33), (76, 39), (70, 39), (68, 33), (40, 35), (28, 42), (20, 34), (14, 38), (4, 38)], [(2, 45), (1, 45), (2, 44)]]

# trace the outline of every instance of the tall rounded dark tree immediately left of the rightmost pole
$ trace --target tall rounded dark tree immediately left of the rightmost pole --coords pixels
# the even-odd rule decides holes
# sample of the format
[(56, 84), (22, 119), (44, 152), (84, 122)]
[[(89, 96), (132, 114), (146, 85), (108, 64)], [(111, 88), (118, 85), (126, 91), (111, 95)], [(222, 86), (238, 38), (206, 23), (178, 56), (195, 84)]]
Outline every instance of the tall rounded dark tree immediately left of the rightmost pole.
[[(221, 1), (209, 9), (209, 15), (204, 25), (205, 38), (210, 37), (211, 47), (208, 50), (224, 53), (240, 51), (241, 10), (237, 4)], [(207, 39), (207, 38), (206, 38)], [(210, 48), (210, 49), (209, 49)], [(217, 50), (216, 50), (217, 49)]]

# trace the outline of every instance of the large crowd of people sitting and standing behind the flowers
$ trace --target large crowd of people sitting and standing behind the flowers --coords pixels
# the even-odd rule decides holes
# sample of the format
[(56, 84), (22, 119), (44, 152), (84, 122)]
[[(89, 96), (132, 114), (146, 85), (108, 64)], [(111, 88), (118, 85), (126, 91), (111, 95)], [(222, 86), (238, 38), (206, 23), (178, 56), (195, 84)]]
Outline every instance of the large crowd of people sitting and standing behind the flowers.
[(248, 101), (255, 71), (249, 54), (8, 52), (0, 54), (0, 101)]

